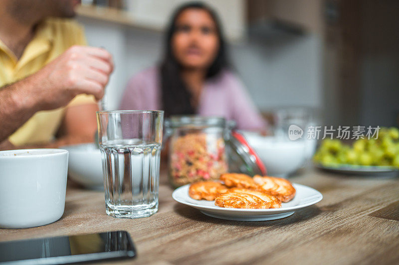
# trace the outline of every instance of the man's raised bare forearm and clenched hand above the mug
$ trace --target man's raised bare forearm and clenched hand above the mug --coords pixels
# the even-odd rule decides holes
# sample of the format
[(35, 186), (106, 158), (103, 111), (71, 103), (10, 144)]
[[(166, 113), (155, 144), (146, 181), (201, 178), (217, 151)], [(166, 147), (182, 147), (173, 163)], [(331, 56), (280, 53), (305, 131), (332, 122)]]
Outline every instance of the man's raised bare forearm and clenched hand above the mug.
[(0, 88), (0, 142), (36, 111), (66, 106), (83, 93), (101, 99), (112, 70), (106, 50), (72, 46), (35, 74)]

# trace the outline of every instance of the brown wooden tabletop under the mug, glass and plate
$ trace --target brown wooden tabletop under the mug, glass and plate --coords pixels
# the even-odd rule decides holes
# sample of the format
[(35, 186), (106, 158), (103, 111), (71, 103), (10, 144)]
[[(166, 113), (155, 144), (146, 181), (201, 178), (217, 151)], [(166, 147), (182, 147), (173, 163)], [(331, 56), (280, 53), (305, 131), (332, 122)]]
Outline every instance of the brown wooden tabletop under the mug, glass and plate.
[(348, 177), (313, 169), (292, 177), (321, 202), (280, 220), (227, 221), (175, 202), (161, 174), (159, 212), (105, 214), (102, 192), (68, 186), (65, 213), (52, 224), (0, 229), (0, 241), (127, 230), (138, 257), (121, 264), (399, 264), (399, 179)]

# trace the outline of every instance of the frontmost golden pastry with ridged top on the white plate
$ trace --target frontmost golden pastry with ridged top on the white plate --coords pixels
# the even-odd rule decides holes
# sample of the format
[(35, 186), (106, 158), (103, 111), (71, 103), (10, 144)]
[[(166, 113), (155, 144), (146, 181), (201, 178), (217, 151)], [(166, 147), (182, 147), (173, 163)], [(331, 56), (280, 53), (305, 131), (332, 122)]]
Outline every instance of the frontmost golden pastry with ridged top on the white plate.
[(280, 208), (281, 200), (258, 190), (230, 188), (215, 198), (215, 205), (225, 208), (269, 209)]

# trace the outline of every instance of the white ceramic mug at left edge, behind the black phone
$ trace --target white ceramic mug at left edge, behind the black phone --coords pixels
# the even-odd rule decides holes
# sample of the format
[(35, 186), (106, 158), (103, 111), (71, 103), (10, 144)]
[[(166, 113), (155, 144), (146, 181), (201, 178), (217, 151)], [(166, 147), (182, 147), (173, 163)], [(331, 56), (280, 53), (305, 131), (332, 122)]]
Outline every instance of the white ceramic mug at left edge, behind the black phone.
[(0, 151), (0, 227), (28, 228), (64, 213), (68, 151)]

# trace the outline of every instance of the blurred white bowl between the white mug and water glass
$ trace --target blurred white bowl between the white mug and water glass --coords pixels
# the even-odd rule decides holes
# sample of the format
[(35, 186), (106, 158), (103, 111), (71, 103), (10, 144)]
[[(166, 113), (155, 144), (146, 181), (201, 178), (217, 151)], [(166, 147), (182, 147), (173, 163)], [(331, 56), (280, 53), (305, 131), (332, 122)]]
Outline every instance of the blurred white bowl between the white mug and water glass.
[(68, 176), (91, 189), (104, 189), (101, 151), (95, 144), (62, 147), (69, 151)]

